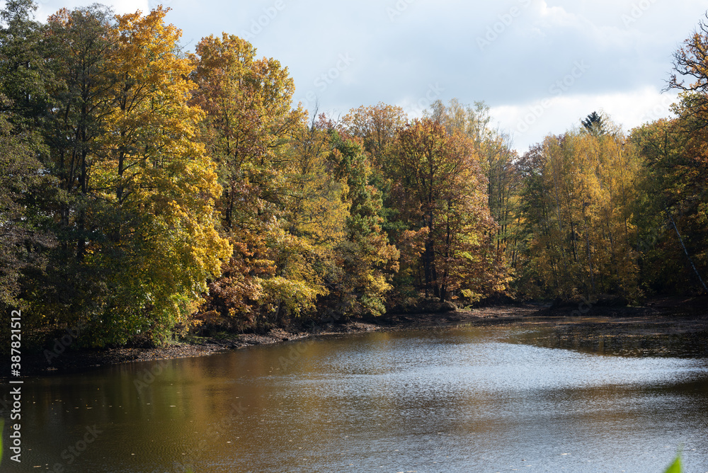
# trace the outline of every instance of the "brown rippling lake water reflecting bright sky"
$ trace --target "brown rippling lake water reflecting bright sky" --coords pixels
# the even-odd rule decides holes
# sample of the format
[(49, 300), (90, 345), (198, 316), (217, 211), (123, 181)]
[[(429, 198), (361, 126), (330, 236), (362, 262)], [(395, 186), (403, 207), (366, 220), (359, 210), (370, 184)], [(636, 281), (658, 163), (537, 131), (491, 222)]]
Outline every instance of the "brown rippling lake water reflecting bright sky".
[(2, 471), (661, 473), (683, 445), (708, 472), (704, 353), (597, 335), (371, 333), (26, 380)]

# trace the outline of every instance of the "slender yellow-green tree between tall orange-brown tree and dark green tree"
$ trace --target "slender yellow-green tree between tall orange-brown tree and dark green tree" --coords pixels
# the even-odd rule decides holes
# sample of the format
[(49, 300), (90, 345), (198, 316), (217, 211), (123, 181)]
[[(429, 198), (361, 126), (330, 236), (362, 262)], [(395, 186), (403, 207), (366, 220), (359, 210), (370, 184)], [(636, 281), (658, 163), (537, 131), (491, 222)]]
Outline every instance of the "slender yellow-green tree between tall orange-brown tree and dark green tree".
[(332, 171), (330, 147), (326, 130), (313, 118), (309, 125), (300, 123), (283, 156), (287, 186), (280, 233), (270, 245), (276, 270), (261, 283), (273, 317), (314, 314), (319, 299), (331, 292), (329, 281), (338, 269), (334, 249), (345, 239), (349, 205), (346, 183)]

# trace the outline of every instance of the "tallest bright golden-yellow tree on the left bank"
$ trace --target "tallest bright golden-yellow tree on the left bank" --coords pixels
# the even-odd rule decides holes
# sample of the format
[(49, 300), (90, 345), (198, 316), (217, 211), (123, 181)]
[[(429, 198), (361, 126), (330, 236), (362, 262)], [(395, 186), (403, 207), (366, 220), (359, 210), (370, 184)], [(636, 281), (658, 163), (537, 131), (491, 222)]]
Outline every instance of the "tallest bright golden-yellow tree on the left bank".
[[(188, 105), (190, 62), (165, 14), (157, 8), (101, 23), (99, 37), (110, 39), (94, 52), (101, 68), (84, 69), (96, 80), (79, 83), (79, 91), (101, 86), (86, 96), (101, 107), (85, 108), (93, 110), (93, 135), (79, 148), (86, 163), (79, 187), (91, 205), (80, 265), (93, 268), (103, 288), (100, 297), (86, 295), (98, 307), (88, 321), (96, 344), (146, 330), (169, 336), (188, 322), (230, 250), (215, 227), (217, 174), (195, 140), (202, 113)], [(52, 27), (61, 38), (84, 17), (64, 11)], [(79, 44), (85, 33), (76, 33)]]

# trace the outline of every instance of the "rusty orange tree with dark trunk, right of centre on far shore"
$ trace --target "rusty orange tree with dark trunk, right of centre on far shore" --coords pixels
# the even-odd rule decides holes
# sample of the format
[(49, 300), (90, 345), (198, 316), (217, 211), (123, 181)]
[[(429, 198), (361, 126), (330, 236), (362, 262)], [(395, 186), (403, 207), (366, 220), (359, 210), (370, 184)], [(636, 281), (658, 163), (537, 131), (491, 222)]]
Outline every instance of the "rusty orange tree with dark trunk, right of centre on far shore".
[(392, 196), (406, 229), (426, 229), (420, 260), (426, 295), (449, 300), (467, 290), (479, 298), (499, 290), (503, 284), (487, 246), (496, 224), (471, 143), (425, 118), (399, 132), (393, 156)]

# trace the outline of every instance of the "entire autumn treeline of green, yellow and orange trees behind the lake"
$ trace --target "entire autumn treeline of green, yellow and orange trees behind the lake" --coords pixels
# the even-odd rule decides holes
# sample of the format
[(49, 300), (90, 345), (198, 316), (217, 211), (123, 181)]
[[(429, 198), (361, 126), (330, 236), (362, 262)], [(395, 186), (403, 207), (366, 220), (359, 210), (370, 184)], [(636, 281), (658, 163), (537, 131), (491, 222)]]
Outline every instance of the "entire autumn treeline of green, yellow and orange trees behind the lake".
[(518, 156), (484, 103), (317, 115), (241, 38), (183, 52), (162, 7), (34, 9), (0, 17), (0, 309), (25, 331), (106, 346), (426, 298), (704, 291), (704, 25), (675, 55), (677, 118), (627, 135), (592, 113)]

